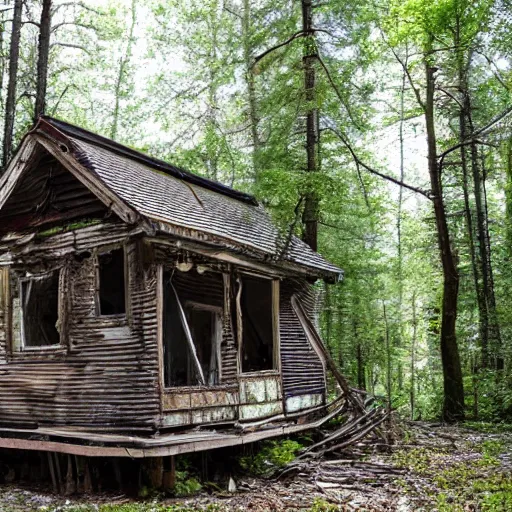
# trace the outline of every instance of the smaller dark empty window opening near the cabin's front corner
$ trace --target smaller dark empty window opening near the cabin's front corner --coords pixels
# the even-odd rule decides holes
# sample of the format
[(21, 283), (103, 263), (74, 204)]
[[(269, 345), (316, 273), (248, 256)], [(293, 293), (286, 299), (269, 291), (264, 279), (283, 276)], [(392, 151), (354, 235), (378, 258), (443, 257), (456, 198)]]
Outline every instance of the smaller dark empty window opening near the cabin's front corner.
[(101, 254), (98, 263), (100, 315), (123, 315), (126, 313), (124, 250)]

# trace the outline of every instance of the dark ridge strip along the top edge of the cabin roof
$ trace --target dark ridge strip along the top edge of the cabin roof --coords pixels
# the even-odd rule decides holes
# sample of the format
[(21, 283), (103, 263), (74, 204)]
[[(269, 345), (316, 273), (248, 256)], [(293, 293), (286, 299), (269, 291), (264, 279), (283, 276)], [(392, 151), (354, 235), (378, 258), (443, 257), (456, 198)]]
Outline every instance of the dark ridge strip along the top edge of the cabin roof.
[(104, 137), (103, 135), (99, 135), (97, 133), (86, 130), (85, 128), (81, 128), (54, 117), (46, 115), (40, 116), (36, 127), (42, 128), (44, 130), (45, 125), (50, 125), (53, 129), (57, 129), (66, 137), (76, 138), (82, 140), (83, 142), (99, 146), (103, 149), (111, 151), (112, 153), (138, 161), (157, 171), (163, 172), (175, 178), (179, 178), (192, 185), (197, 185), (199, 187), (218, 192), (219, 194), (231, 197), (244, 203), (252, 204), (253, 206), (259, 205), (256, 198), (250, 194), (240, 192), (231, 187), (228, 187), (227, 185), (223, 185), (222, 183), (210, 180), (208, 178), (203, 178), (202, 176), (198, 176), (197, 174), (193, 174), (190, 171), (176, 167), (168, 162), (165, 162), (164, 160), (153, 158), (149, 155), (146, 155), (145, 153)]

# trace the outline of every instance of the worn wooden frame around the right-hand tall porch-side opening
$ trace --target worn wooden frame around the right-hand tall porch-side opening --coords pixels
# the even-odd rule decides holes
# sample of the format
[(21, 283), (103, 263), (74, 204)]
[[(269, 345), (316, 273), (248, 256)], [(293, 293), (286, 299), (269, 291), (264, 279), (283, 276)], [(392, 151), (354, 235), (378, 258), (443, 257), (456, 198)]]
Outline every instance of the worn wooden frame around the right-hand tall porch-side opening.
[[(244, 342), (244, 333), (243, 333), (243, 311), (242, 311), (242, 294), (243, 285), (242, 279), (243, 276), (249, 276), (252, 278), (263, 279), (267, 281), (271, 281), (271, 296), (272, 296), (272, 304), (271, 304), (271, 315), (272, 315), (272, 368), (269, 370), (256, 370), (256, 371), (243, 371), (243, 342)], [(237, 312), (237, 335), (238, 335), (238, 376), (239, 378), (251, 377), (251, 376), (262, 376), (262, 375), (279, 375), (281, 373), (281, 336), (280, 336), (280, 319), (279, 319), (279, 309), (280, 309), (280, 280), (274, 276), (258, 274), (256, 272), (249, 271), (240, 271), (237, 277), (238, 282), (238, 290), (236, 294), (236, 312)]]

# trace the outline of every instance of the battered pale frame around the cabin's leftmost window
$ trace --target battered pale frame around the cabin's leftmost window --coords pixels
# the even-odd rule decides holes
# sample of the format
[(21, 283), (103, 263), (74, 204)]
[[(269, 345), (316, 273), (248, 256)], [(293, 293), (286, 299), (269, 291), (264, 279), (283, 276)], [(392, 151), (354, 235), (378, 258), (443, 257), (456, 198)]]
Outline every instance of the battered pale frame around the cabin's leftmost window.
[[(9, 269), (9, 273), (12, 272), (12, 269)], [(59, 329), (57, 329), (57, 332), (59, 333), (59, 343), (54, 343), (52, 345), (42, 345), (42, 346), (35, 346), (30, 347), (26, 345), (26, 336), (25, 336), (25, 321), (24, 321), (24, 311), (23, 311), (23, 283), (27, 283), (30, 281), (33, 281), (37, 278), (41, 278), (44, 276), (48, 276), (54, 272), (58, 273), (59, 278), (59, 285), (57, 289), (57, 321), (59, 324)], [(21, 276), (17, 277), (16, 280), (18, 281), (18, 300), (20, 301), (19, 306), (19, 320), (20, 320), (20, 340), (19, 345), (15, 345), (14, 340), (14, 294), (12, 293), (12, 290), (9, 290), (9, 349), (11, 354), (26, 354), (26, 353), (45, 353), (45, 352), (57, 352), (61, 351), (65, 348), (65, 340), (63, 336), (63, 327), (67, 321), (67, 308), (64, 307), (66, 304), (66, 301), (63, 297), (63, 280), (65, 279), (65, 268), (64, 267), (58, 267), (55, 269), (52, 269), (48, 272), (38, 272), (35, 274), (32, 274), (30, 276)], [(9, 280), (10, 282), (10, 280)]]

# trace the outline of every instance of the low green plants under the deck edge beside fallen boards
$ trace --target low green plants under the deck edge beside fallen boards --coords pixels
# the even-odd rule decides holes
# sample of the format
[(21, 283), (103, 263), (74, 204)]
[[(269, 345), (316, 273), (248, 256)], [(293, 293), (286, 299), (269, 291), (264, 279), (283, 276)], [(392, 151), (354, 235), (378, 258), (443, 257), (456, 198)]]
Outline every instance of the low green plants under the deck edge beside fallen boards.
[(252, 475), (268, 476), (292, 462), (302, 448), (300, 443), (291, 439), (264, 441), (256, 454), (240, 457), (239, 464)]

